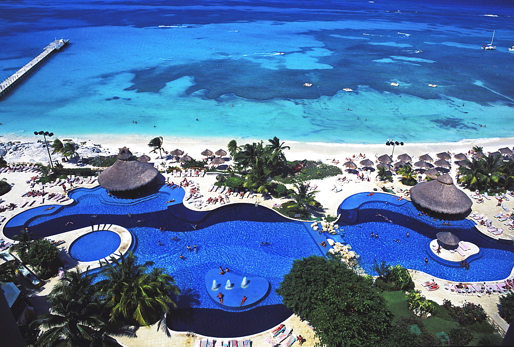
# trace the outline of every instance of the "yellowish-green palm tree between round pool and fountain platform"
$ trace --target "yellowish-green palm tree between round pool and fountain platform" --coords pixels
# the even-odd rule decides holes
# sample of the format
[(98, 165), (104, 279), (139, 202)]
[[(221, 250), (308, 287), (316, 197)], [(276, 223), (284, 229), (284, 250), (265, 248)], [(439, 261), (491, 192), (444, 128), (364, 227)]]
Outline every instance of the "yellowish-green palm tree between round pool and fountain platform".
[(112, 321), (121, 318), (131, 323), (149, 326), (162, 313), (170, 311), (171, 294), (179, 294), (174, 279), (164, 269), (153, 269), (147, 273), (152, 261), (137, 263), (137, 256), (128, 252), (119, 259), (112, 257), (101, 262), (101, 275), (106, 279), (98, 283), (105, 304), (111, 310)]

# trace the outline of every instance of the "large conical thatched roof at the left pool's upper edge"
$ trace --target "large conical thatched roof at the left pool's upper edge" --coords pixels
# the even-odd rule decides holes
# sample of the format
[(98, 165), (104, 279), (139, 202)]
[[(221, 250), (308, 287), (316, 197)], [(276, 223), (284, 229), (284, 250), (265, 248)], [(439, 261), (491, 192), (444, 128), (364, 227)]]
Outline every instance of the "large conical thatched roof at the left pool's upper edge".
[(120, 148), (117, 160), (98, 175), (98, 183), (111, 191), (127, 191), (152, 182), (159, 171), (150, 163), (135, 159), (127, 147)]

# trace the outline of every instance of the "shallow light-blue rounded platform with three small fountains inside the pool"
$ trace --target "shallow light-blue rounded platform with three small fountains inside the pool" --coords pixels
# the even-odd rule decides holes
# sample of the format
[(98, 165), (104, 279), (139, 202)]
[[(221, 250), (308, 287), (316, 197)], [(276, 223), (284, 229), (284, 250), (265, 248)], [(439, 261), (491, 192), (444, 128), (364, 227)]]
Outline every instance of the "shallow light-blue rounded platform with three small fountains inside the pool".
[[(245, 278), (246, 285), (243, 285)], [(231, 283), (230, 289), (226, 289), (227, 280)], [(216, 281), (214, 287), (213, 281)], [(262, 277), (238, 276), (231, 272), (220, 275), (219, 269), (212, 269), (205, 275), (205, 287), (211, 299), (219, 306), (229, 310), (244, 310), (264, 300), (269, 294), (271, 285)], [(223, 305), (216, 298), (219, 292), (224, 295)], [(243, 296), (247, 299), (243, 306), (240, 306)]]

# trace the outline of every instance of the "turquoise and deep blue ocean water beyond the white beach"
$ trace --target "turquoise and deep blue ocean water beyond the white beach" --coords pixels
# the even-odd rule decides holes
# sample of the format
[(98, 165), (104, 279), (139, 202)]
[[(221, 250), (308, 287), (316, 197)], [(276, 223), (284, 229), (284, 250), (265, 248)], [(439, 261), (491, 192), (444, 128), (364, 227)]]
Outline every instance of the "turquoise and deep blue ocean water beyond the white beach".
[(502, 0), (3, 1), (1, 79), (70, 44), (0, 100), (1, 134), (512, 137), (513, 19)]

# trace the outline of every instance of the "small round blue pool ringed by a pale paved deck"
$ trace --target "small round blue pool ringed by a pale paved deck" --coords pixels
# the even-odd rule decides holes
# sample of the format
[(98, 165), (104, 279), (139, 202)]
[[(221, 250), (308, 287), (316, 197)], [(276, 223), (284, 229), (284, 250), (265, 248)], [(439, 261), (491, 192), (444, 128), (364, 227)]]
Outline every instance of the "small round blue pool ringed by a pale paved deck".
[(71, 244), (69, 254), (78, 261), (95, 261), (113, 254), (121, 238), (109, 230), (99, 230), (79, 237)]

